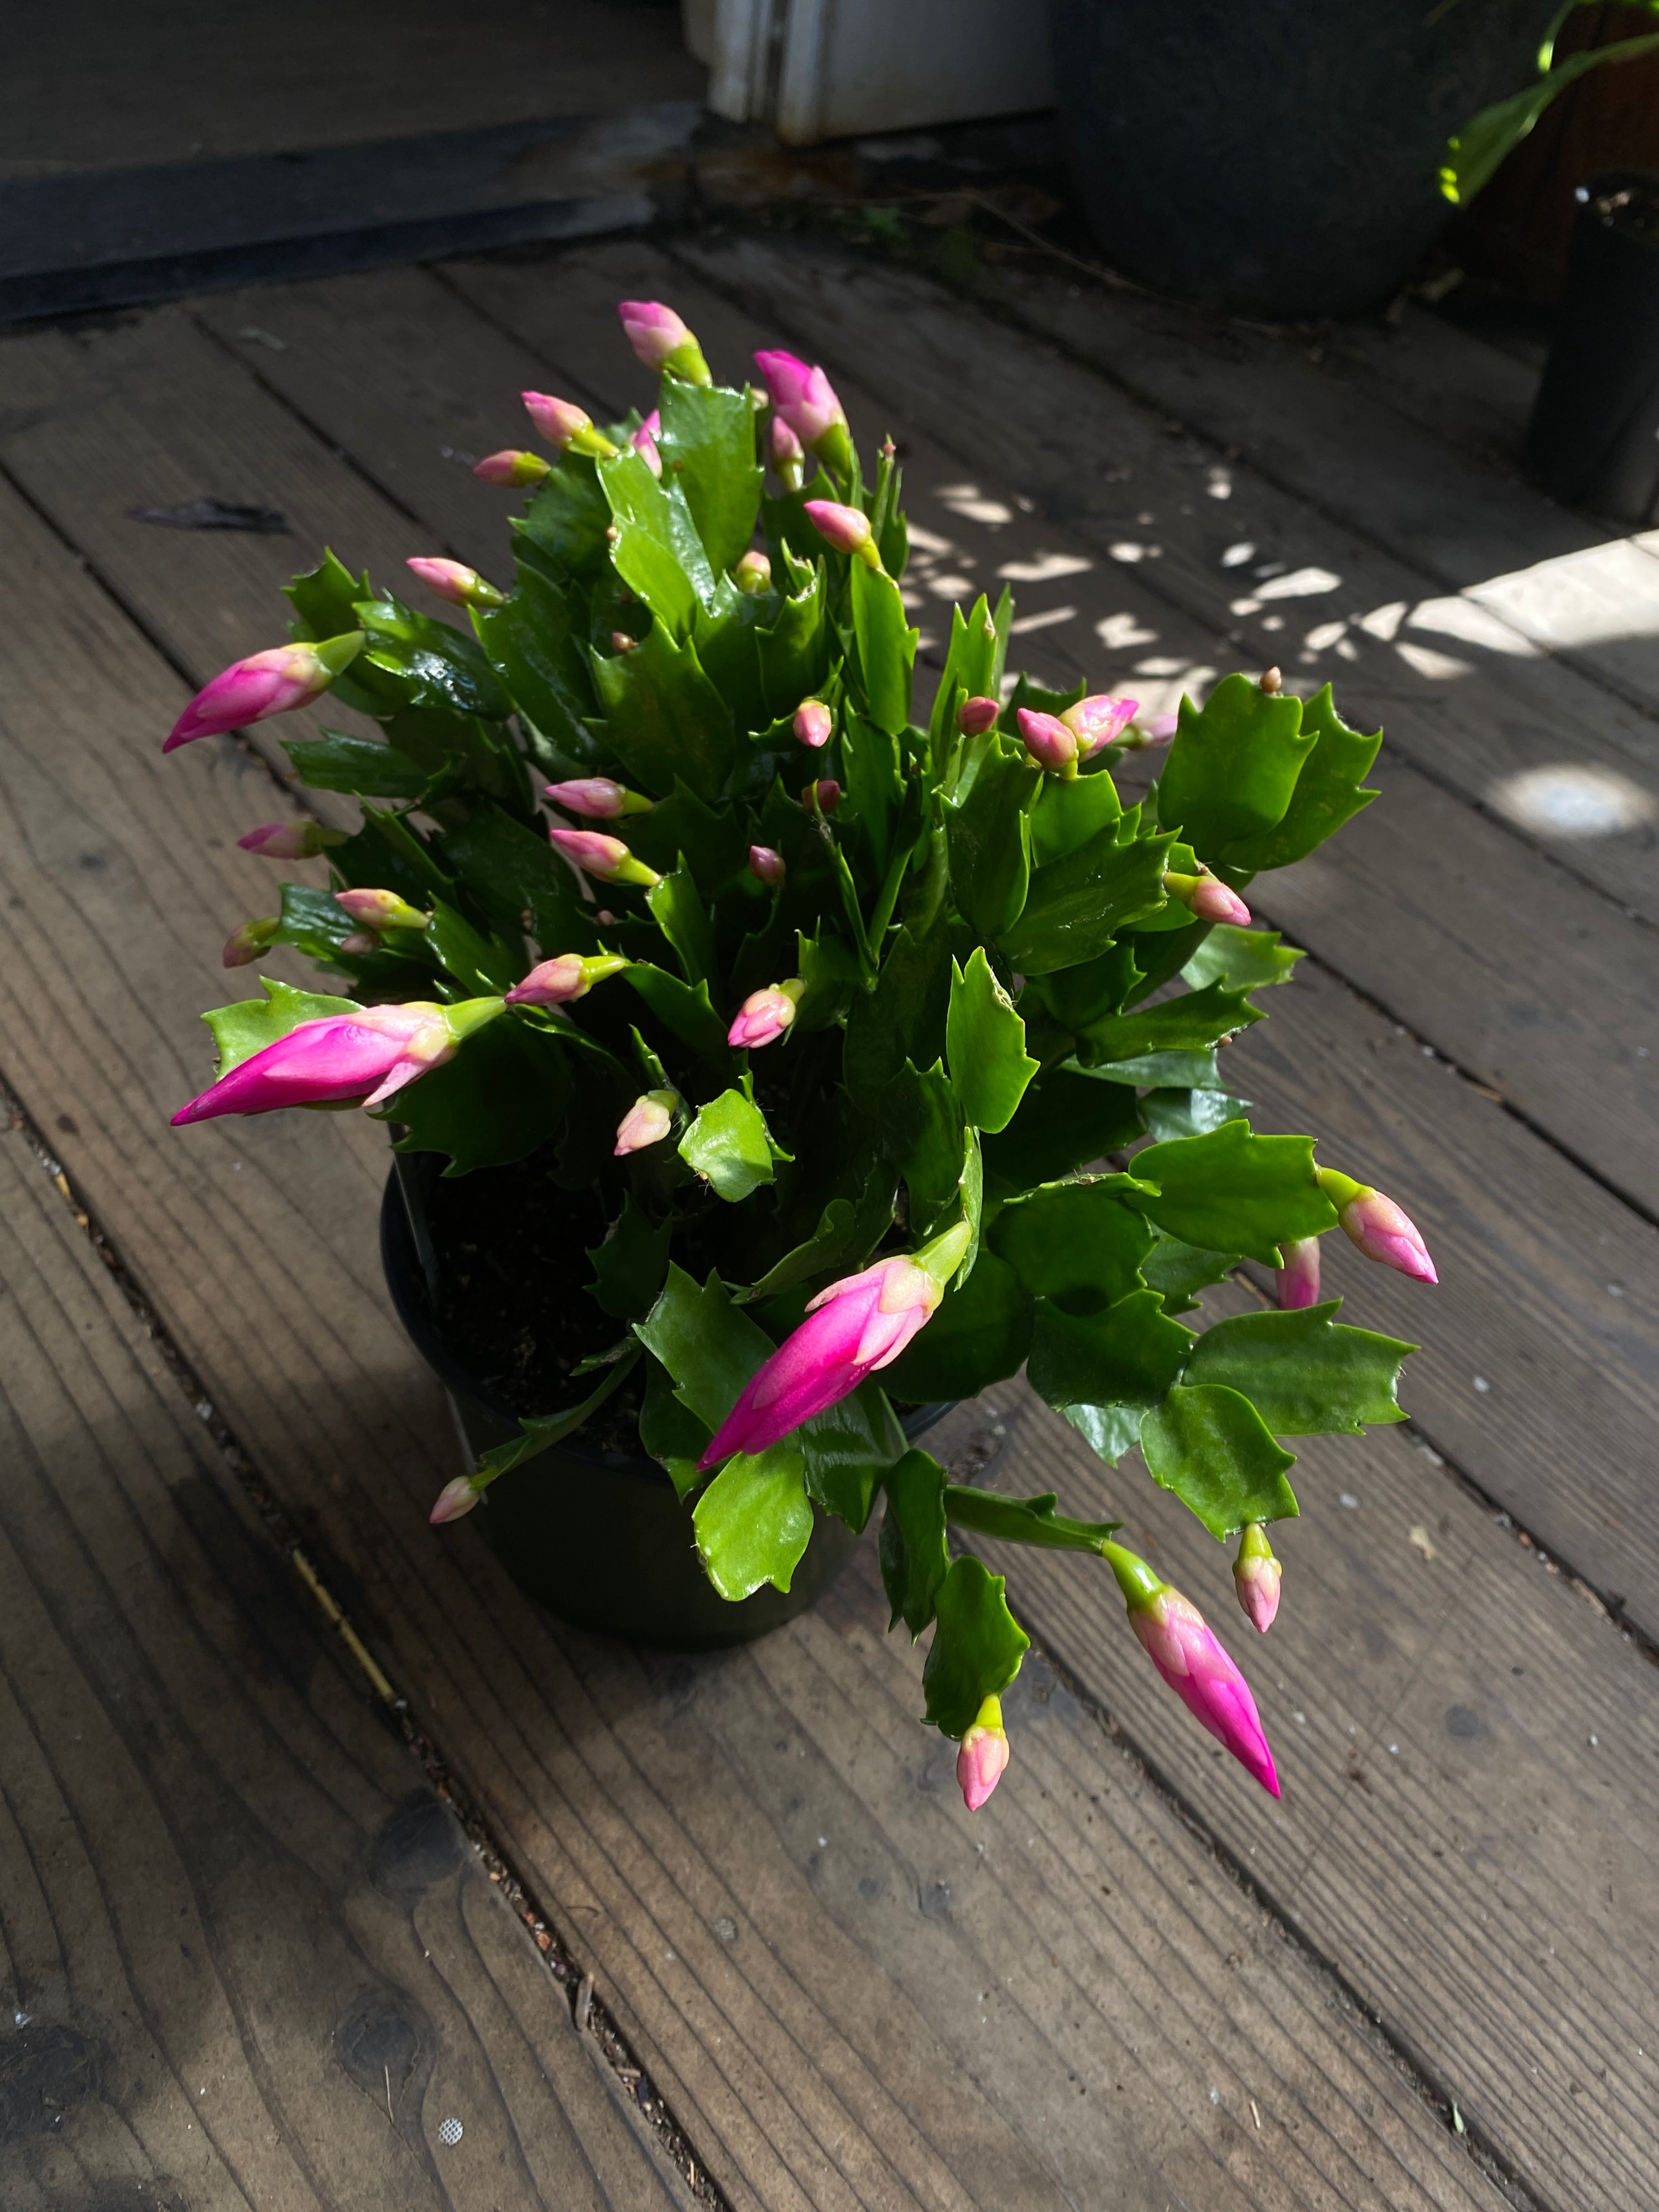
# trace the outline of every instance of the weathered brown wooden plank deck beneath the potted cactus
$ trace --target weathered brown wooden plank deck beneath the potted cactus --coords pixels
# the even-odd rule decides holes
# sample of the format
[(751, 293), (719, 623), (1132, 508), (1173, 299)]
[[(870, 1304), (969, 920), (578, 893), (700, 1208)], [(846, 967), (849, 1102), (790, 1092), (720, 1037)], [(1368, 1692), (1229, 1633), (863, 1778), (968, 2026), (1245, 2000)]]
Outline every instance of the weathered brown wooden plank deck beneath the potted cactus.
[[(1409, 1429), (1303, 1453), (1248, 1652), (1283, 1803), (1062, 1557), (1009, 1564), (1037, 1648), (975, 1820), (869, 1546), (745, 1652), (540, 1615), (425, 1522), (380, 1133), (168, 1128), (268, 905), (234, 838), (294, 799), (161, 732), (323, 544), (500, 568), (467, 460), (524, 385), (639, 396), (628, 294), (732, 374), (823, 358), (905, 445), (920, 604), (1011, 577), (1037, 672), (1279, 661), (1387, 726), (1230, 1062), (1442, 1267), (1327, 1261), (1427, 1349)], [(1659, 542), (1533, 498), (1526, 369), (1427, 314), (1310, 352), (1064, 276), (995, 307), (628, 239), (0, 341), (7, 2212), (1659, 2203)], [(292, 535), (128, 520), (201, 493)], [(940, 1455), (1217, 1586), (1020, 1385)]]

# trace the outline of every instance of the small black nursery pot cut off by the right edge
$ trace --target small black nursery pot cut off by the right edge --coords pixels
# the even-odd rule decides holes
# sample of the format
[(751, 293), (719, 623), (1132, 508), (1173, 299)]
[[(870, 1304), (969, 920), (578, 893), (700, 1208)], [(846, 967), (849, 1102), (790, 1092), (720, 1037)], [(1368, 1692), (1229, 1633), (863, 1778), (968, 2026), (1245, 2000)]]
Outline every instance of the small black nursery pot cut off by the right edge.
[(1553, 500), (1659, 520), (1659, 175), (1579, 186), (1562, 314), (1526, 429)]

